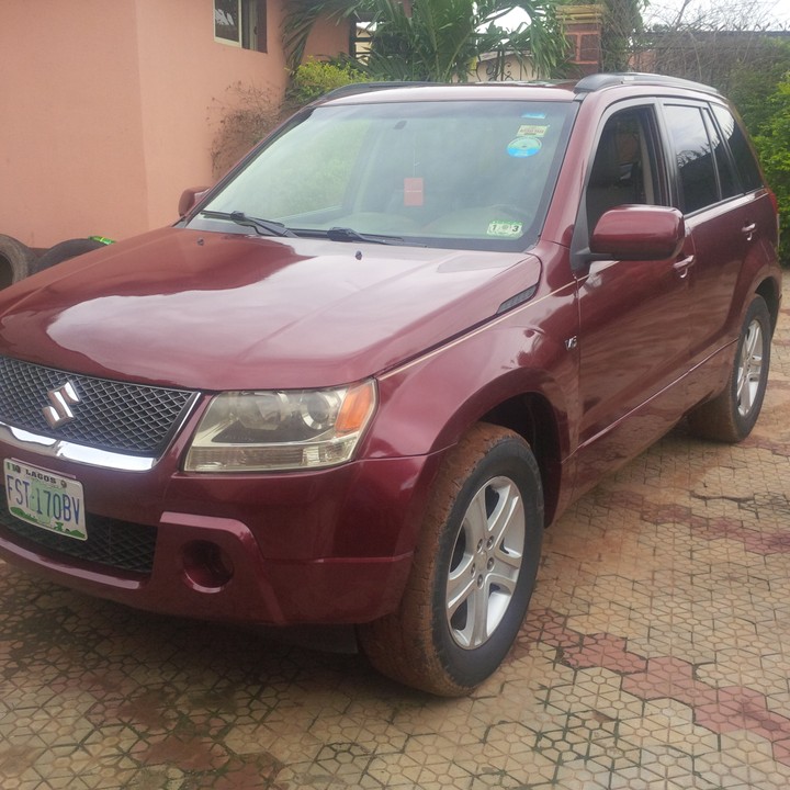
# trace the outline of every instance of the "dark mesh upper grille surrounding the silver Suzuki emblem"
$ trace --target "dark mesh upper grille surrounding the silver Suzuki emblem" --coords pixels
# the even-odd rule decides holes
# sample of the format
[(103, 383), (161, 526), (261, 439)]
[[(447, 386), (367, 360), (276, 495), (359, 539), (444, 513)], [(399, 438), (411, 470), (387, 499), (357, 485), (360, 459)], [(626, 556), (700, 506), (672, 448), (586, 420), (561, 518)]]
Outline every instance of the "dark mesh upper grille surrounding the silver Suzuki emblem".
[[(69, 382), (79, 397), (74, 419), (52, 428), (48, 391)], [(183, 424), (198, 393), (67, 373), (0, 357), (0, 420), (54, 439), (158, 458)]]

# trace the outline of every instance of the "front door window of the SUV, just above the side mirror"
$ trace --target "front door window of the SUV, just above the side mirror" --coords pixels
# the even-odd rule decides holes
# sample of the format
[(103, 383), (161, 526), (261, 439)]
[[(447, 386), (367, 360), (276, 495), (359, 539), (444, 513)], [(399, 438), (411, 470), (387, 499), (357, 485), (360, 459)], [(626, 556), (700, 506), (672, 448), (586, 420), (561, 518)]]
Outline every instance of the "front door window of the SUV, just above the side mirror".
[(590, 230), (601, 214), (614, 206), (665, 202), (655, 129), (651, 108), (622, 110), (606, 122), (587, 182), (585, 207)]

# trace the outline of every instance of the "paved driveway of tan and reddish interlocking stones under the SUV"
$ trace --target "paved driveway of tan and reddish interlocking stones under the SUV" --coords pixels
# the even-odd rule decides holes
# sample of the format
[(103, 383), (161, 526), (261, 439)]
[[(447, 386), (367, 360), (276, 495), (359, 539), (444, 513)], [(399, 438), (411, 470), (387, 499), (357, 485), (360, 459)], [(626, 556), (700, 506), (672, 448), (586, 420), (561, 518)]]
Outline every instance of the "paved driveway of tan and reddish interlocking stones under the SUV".
[(753, 436), (680, 427), (582, 499), (469, 699), (2, 563), (0, 611), (2, 790), (785, 790), (790, 280)]

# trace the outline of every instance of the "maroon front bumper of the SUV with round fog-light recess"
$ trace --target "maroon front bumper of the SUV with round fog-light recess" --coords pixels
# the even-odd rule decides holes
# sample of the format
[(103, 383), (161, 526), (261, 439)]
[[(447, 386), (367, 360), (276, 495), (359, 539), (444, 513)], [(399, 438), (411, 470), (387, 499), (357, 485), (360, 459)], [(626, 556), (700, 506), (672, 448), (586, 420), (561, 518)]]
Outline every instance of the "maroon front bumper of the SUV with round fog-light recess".
[[(0, 556), (91, 595), (168, 614), (269, 624), (360, 623), (394, 610), (437, 455), (361, 460), (320, 472), (185, 475), (78, 465), (0, 443), (0, 455), (78, 479), (109, 544), (153, 535), (149, 566), (38, 540), (0, 519)], [(4, 504), (3, 504), (4, 507)], [(89, 521), (89, 535), (95, 531)], [(116, 535), (113, 541), (112, 535)], [(76, 552), (76, 553), (75, 553)]]

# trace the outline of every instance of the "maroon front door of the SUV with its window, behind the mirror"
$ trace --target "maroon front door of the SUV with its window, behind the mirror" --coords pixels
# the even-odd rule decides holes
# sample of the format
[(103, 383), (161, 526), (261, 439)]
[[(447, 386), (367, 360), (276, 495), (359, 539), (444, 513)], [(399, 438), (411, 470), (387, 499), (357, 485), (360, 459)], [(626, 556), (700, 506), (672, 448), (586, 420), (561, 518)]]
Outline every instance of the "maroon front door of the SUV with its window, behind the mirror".
[[(579, 212), (589, 232), (614, 206), (668, 205), (659, 139), (653, 105), (605, 122)], [(578, 278), (578, 493), (666, 432), (684, 408), (691, 262), (688, 250), (594, 261)]]

